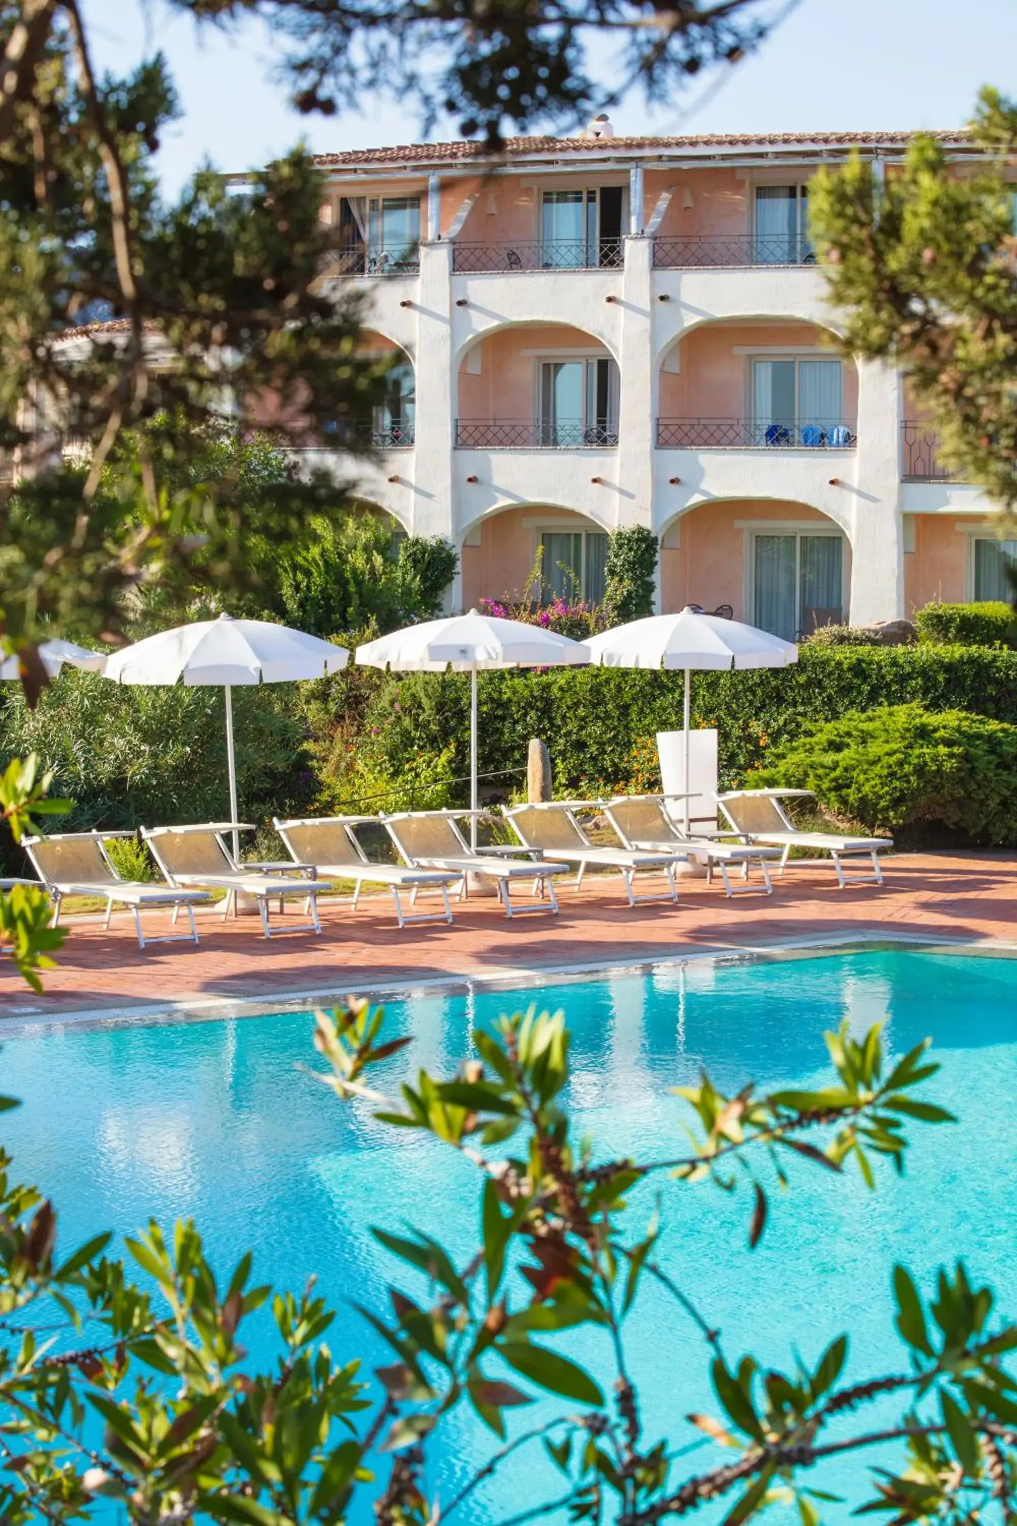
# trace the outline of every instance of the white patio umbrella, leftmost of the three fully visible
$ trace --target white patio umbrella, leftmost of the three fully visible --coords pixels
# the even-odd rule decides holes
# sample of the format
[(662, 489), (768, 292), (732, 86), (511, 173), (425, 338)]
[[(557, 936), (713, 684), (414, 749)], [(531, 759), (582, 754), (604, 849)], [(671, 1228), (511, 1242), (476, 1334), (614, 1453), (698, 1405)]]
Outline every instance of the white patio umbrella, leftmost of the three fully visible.
[[(303, 630), (267, 620), (198, 620), (192, 626), (160, 630), (107, 659), (105, 676), (114, 684), (215, 685), (226, 691), (226, 754), (230, 775), (230, 821), (238, 819), (236, 758), (233, 754), (233, 688), (247, 684), (293, 684), (325, 678), (346, 667), (349, 652)], [(233, 832), (233, 858), (239, 836)]]

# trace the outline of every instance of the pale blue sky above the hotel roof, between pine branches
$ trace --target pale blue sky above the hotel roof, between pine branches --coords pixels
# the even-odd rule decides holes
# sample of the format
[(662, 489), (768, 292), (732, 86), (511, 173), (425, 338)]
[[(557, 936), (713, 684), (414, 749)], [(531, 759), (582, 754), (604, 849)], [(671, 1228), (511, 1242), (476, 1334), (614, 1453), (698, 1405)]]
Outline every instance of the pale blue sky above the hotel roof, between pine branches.
[[(163, 0), (87, 0), (85, 14), (104, 67), (154, 49), (169, 60), (183, 105), (159, 156), (169, 194), (204, 160), (252, 169), (300, 137), (319, 153), (422, 140), (419, 119), (393, 101), (328, 119), (296, 113), (258, 20), (198, 27)], [(619, 133), (660, 134), (950, 128), (971, 116), (982, 84), (1017, 95), (1014, 0), (799, 0), (723, 79), (700, 75), (653, 113), (633, 95), (611, 119)]]

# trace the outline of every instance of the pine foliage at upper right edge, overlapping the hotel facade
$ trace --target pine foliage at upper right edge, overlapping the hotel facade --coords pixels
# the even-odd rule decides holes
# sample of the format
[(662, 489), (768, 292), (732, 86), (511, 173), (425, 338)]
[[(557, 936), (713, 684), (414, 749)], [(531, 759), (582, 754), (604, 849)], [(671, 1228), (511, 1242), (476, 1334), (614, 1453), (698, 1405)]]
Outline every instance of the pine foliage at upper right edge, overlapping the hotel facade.
[(973, 174), (950, 172), (945, 145), (924, 136), (878, 185), (860, 157), (820, 169), (810, 227), (845, 349), (904, 368), (944, 464), (1014, 510), (1017, 282), (1005, 166), (1017, 107), (996, 92), (982, 93), (973, 146), (985, 153)]

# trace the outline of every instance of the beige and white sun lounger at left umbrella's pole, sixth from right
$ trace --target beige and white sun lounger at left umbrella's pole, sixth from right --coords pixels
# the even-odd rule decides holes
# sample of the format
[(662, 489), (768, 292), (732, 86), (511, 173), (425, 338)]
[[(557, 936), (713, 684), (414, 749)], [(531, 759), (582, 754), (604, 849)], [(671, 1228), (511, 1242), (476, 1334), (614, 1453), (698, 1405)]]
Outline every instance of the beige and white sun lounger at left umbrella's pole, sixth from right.
[[(281, 932), (322, 932), (317, 916), (317, 897), (328, 890), (326, 881), (317, 881), (305, 870), (302, 876), (279, 873), (281, 865), (238, 864), (226, 845), (226, 832), (253, 832), (252, 826), (235, 821), (209, 821), (194, 827), (142, 827), (142, 836), (152, 850), (152, 858), (171, 885), (200, 887), (201, 890), (224, 890), (223, 920), (236, 905), (238, 896), (252, 896), (258, 902), (261, 926), (267, 938)], [(288, 865), (284, 865), (288, 868)], [(270, 874), (268, 870), (276, 873)], [(294, 865), (294, 870), (297, 865)], [(259, 873), (264, 870), (264, 873)], [(306, 902), (310, 922), (271, 928), (268, 902), (279, 903), (297, 896)]]

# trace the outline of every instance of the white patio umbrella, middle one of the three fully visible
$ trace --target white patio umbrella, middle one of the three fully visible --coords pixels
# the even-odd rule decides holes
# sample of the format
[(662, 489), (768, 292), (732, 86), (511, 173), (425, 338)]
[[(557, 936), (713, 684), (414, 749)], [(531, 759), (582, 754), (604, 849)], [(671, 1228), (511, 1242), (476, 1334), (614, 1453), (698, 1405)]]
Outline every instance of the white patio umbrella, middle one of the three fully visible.
[(470, 842), (477, 845), (477, 673), (517, 667), (579, 667), (590, 661), (581, 641), (543, 626), (497, 620), (471, 609), (421, 626), (406, 626), (357, 647), (357, 662), (395, 673), (470, 673)]

